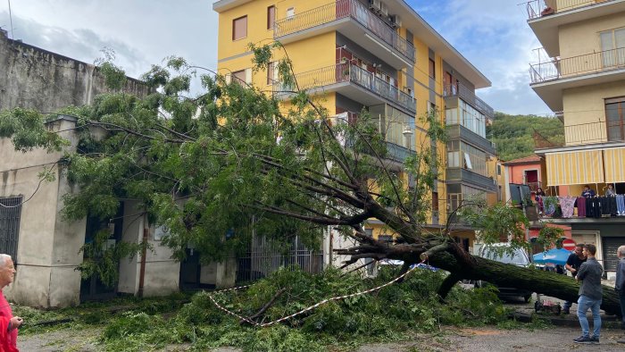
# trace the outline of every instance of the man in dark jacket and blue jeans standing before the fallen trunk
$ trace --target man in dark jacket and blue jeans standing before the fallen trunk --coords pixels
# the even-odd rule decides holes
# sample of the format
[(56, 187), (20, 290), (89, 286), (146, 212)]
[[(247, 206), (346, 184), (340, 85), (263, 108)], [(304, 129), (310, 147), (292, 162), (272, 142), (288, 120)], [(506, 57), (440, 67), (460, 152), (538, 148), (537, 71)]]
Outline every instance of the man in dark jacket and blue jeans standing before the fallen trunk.
[[(595, 245), (586, 245), (583, 250), (587, 257), (586, 263), (581, 264), (577, 276), (581, 281), (579, 287), (578, 299), (578, 319), (581, 325), (581, 336), (573, 339), (576, 343), (599, 343), (601, 335), (601, 315), (599, 315), (599, 306), (603, 300), (603, 291), (601, 289), (601, 275), (604, 273), (604, 267), (596, 261)], [(589, 335), (590, 327), (586, 318), (586, 312), (590, 309), (593, 313), (593, 336)]]

